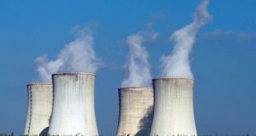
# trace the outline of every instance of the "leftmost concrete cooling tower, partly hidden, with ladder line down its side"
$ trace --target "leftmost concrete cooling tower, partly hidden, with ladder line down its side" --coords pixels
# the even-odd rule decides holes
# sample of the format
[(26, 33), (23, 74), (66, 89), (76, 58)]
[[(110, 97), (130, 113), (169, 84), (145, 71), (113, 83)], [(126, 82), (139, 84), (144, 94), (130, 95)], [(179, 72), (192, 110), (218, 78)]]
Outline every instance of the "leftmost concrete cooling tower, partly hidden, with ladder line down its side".
[(53, 87), (51, 83), (31, 83), (27, 85), (28, 110), (26, 135), (47, 134), (52, 111)]

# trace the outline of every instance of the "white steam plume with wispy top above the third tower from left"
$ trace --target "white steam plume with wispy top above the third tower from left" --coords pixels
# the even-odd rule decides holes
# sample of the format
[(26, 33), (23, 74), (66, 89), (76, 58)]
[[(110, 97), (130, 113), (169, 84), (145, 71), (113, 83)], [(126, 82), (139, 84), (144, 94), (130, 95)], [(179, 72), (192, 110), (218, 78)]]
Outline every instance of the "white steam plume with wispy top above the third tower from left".
[(160, 34), (154, 31), (155, 21), (160, 16), (155, 14), (151, 21), (146, 24), (146, 29), (126, 38), (126, 44), (129, 45), (129, 59), (126, 62), (128, 75), (121, 83), (121, 87), (150, 87), (152, 76), (148, 62), (149, 54), (143, 46), (146, 42), (157, 40)]

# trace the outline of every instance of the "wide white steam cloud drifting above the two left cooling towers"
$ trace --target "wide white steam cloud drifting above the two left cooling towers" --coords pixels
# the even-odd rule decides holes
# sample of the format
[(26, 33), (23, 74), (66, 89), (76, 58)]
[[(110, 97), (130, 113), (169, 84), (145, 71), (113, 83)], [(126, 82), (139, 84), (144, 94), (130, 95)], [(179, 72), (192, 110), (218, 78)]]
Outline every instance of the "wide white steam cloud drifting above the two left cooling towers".
[(79, 30), (78, 37), (60, 51), (57, 59), (48, 60), (46, 55), (36, 59), (37, 72), (42, 82), (50, 82), (52, 73), (96, 73), (101, 62), (92, 49), (93, 37), (89, 28)]

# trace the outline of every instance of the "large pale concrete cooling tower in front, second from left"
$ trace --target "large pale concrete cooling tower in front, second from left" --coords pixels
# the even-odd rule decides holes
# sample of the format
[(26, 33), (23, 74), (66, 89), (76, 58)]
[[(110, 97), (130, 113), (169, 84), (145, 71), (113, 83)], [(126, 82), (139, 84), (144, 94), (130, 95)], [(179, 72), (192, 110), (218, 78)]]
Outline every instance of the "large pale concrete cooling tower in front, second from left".
[(91, 73), (57, 73), (54, 85), (50, 135), (96, 136), (94, 108), (95, 75)]

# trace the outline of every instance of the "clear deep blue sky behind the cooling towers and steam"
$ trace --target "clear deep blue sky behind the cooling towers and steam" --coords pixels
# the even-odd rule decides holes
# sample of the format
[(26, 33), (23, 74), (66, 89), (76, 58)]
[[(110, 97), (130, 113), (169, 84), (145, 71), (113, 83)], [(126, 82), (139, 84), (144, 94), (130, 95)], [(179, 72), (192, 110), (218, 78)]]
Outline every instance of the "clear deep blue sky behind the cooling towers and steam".
[[(105, 63), (97, 71), (99, 132), (114, 135), (117, 88), (125, 77), (128, 35), (154, 22), (158, 40), (145, 43), (153, 77), (168, 36), (192, 21), (200, 0), (94, 0), (0, 2), (0, 132), (22, 134), (26, 124), (26, 83), (36, 81), (34, 59), (56, 57), (74, 39), (74, 26), (97, 24), (94, 49)], [(256, 134), (256, 1), (212, 0), (212, 21), (201, 29), (192, 50), (195, 115), (199, 134)]]

